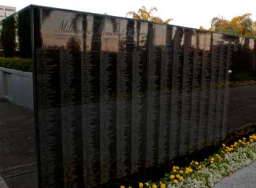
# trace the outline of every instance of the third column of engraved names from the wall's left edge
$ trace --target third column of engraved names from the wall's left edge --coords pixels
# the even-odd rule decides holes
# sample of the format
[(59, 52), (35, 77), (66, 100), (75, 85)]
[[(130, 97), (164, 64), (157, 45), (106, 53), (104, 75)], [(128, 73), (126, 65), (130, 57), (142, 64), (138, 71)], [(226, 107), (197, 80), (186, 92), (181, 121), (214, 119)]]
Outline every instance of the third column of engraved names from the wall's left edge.
[(100, 182), (100, 52), (81, 54), (82, 137), (85, 186)]

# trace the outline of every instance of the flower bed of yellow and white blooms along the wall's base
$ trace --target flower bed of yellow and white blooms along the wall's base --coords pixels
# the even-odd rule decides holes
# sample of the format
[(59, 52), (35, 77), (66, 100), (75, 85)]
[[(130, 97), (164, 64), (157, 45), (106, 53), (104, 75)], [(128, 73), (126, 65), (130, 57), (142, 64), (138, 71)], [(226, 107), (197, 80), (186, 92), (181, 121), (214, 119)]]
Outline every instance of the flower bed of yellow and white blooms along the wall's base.
[[(256, 124), (255, 124), (256, 125)], [(249, 129), (236, 131), (234, 137), (241, 137), (255, 129), (255, 125)], [(248, 135), (248, 134), (247, 134)], [(169, 174), (158, 182), (148, 181), (140, 183), (140, 188), (207, 188), (213, 187), (223, 177), (229, 176), (244, 166), (256, 161), (256, 135), (234, 142), (234, 137), (229, 137), (217, 153), (205, 158), (205, 161), (191, 161), (188, 166), (173, 166)], [(121, 188), (126, 188), (121, 186)], [(128, 187), (132, 188), (132, 187)]]

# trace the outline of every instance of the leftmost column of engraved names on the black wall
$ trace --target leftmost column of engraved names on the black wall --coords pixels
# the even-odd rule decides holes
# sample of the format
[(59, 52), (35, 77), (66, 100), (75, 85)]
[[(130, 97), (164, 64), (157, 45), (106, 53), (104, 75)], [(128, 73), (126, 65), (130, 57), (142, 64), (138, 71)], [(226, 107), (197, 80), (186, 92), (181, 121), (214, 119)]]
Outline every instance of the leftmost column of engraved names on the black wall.
[[(42, 187), (61, 187), (62, 145), (59, 96), (59, 51), (35, 49), (36, 96), (40, 150), (40, 181)], [(56, 151), (59, 151), (56, 153)], [(48, 176), (50, 174), (51, 176)]]

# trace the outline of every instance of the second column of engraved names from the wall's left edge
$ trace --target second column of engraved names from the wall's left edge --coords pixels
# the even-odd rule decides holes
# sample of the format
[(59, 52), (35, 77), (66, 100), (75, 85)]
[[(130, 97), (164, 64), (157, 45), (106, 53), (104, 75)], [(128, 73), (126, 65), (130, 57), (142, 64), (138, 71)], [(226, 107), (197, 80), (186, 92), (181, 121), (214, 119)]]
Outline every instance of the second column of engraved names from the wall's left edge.
[[(76, 98), (74, 86), (74, 59), (70, 51), (61, 49), (60, 61), (60, 93), (61, 93), (61, 135), (63, 145), (64, 177), (69, 179), (72, 187), (78, 187), (77, 153), (76, 153)], [(69, 187), (65, 184), (65, 187)]]

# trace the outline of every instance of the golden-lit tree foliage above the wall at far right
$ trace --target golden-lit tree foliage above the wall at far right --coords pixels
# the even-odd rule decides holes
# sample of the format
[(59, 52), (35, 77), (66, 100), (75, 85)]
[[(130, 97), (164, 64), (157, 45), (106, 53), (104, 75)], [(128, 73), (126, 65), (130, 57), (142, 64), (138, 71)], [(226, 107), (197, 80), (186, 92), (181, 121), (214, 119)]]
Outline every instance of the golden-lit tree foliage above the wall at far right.
[(213, 17), (210, 21), (210, 30), (239, 36), (256, 37), (256, 22), (253, 22), (251, 16), (252, 14), (246, 13), (234, 17), (232, 20), (226, 20), (221, 16)]

